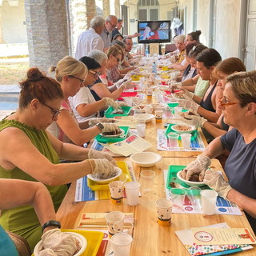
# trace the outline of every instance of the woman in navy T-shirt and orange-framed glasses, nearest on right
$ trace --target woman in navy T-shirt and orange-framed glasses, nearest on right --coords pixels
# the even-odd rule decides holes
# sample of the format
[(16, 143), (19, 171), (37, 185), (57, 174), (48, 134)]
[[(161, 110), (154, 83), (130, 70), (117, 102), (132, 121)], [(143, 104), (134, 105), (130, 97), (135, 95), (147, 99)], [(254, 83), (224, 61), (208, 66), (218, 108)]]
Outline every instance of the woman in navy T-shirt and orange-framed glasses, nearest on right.
[[(224, 122), (234, 128), (215, 138), (194, 162), (190, 162), (182, 171), (182, 178), (188, 180), (191, 174), (201, 173), (207, 186), (244, 210), (255, 233), (256, 71), (239, 72), (226, 78), (220, 105)], [(217, 171), (207, 170), (210, 158), (216, 158), (224, 150), (230, 151), (224, 168), (228, 182)]]

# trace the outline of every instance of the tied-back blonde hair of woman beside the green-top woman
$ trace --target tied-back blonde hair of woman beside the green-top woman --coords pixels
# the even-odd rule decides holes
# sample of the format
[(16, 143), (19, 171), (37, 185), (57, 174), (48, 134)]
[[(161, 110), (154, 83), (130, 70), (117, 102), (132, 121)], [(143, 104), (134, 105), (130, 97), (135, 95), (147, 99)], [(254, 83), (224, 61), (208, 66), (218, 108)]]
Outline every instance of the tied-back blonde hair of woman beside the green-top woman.
[(62, 58), (57, 66), (50, 66), (50, 72), (55, 72), (55, 78), (58, 82), (62, 81), (64, 75), (84, 75), (86, 78), (88, 74), (86, 65), (71, 56)]

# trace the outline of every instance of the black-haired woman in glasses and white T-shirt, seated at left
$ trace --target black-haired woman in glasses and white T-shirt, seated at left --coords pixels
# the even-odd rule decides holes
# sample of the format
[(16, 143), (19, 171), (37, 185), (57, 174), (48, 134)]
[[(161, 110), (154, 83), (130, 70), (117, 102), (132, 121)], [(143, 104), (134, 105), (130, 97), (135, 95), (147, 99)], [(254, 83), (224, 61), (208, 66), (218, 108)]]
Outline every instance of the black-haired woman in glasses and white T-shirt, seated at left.
[(98, 78), (100, 65), (93, 58), (86, 56), (80, 58), (80, 62), (86, 65), (89, 70), (88, 75), (78, 94), (70, 97), (69, 101), (75, 117), (82, 126), (82, 123), (88, 121), (88, 119), (97, 117), (98, 111), (105, 110), (106, 106), (113, 106), (114, 109), (118, 109), (121, 108), (121, 105), (114, 102), (112, 98), (102, 98), (99, 101), (94, 99), (88, 86), (93, 85)]

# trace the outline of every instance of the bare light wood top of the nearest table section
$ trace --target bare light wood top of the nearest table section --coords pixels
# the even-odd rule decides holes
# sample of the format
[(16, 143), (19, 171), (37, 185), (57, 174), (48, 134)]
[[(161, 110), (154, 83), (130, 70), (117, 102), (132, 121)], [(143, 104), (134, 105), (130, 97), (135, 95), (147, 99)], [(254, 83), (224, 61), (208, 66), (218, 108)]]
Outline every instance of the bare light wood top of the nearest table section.
[[(118, 158), (125, 160), (126, 158)], [(155, 201), (158, 198), (166, 198), (165, 185), (162, 170), (168, 169), (170, 165), (186, 165), (194, 158), (162, 158), (155, 166), (143, 168), (134, 165), (134, 172), (139, 181), (141, 170), (154, 170), (154, 192), (150, 196), (143, 196), (139, 199), (138, 206), (128, 206), (126, 199), (122, 205), (113, 205), (110, 200), (74, 202), (75, 182), (70, 186), (62, 205), (60, 206), (57, 218), (62, 222), (62, 228), (78, 229), (78, 221), (82, 213), (100, 213), (119, 210), (122, 212), (134, 213), (134, 241), (132, 242), (130, 255), (133, 256), (185, 256), (190, 255), (186, 248), (175, 235), (176, 230), (186, 230), (191, 227), (212, 225), (226, 222), (230, 227), (248, 227), (250, 224), (244, 214), (238, 215), (211, 215), (204, 214), (172, 214), (171, 226), (159, 226), (155, 209)], [(212, 160), (210, 166), (214, 170), (222, 170), (218, 160)], [(253, 234), (253, 233), (252, 233)], [(236, 255), (253, 256), (256, 248), (246, 250)]]

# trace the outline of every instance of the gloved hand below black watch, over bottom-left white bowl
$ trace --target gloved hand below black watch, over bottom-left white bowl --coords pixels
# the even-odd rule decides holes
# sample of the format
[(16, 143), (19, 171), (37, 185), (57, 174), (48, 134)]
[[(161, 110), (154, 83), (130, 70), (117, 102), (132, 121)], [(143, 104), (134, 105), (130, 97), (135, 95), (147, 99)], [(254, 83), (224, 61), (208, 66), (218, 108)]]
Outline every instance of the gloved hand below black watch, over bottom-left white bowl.
[(48, 230), (42, 235), (42, 246), (51, 249), (57, 255), (73, 255), (78, 249), (74, 236), (62, 232), (60, 229)]

